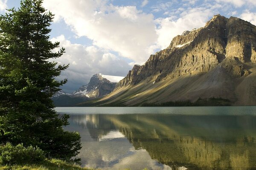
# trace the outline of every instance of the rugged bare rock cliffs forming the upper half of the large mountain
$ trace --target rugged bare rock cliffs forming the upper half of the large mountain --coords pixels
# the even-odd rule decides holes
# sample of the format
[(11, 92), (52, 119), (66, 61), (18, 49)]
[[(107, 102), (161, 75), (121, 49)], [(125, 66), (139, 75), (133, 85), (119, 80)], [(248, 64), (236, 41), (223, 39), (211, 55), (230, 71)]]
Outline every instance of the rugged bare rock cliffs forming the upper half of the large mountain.
[[(137, 84), (148, 77), (159, 82), (166, 77), (205, 74), (225, 58), (256, 62), (256, 26), (236, 17), (215, 15), (203, 28), (174, 37), (168, 48), (151, 55), (144, 65), (136, 68), (137, 72), (133, 68), (117, 88)], [(230, 72), (235, 76), (248, 72), (243, 66), (230, 67), (226, 68), (233, 69)]]

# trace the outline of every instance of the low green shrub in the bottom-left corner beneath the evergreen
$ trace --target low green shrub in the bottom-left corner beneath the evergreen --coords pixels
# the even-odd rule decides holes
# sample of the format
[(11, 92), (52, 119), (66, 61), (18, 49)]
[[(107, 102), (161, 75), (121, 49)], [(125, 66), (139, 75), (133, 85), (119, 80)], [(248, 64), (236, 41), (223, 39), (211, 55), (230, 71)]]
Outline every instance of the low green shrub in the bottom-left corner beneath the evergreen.
[(0, 145), (0, 164), (31, 164), (44, 161), (44, 151), (38, 147), (24, 147), (23, 144), (12, 146)]

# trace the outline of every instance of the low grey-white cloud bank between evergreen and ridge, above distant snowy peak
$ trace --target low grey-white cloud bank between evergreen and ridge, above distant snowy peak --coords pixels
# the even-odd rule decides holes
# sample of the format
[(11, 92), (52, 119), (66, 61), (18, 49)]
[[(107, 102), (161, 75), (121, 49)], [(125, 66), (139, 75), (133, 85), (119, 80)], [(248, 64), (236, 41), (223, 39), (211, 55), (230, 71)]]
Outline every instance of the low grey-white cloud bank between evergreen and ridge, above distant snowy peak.
[[(62, 71), (58, 79), (67, 78), (68, 82), (63, 86), (65, 92), (72, 92), (81, 85), (86, 85), (93, 74), (126, 76), (131, 66), (114, 54), (95, 46), (72, 44), (64, 35), (52, 38), (52, 42), (60, 42), (66, 49), (66, 53), (52, 61), (58, 64), (70, 64), (69, 68)], [(56, 49), (58, 50), (58, 49)]]

